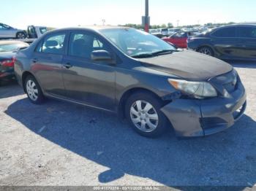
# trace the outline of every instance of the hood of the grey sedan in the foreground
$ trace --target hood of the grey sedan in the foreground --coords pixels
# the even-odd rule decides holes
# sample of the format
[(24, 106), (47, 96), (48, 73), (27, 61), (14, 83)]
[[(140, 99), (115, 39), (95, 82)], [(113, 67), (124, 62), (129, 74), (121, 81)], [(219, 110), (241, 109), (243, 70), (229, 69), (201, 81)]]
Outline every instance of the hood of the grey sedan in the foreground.
[(217, 58), (189, 50), (140, 59), (143, 66), (184, 79), (207, 80), (233, 69)]

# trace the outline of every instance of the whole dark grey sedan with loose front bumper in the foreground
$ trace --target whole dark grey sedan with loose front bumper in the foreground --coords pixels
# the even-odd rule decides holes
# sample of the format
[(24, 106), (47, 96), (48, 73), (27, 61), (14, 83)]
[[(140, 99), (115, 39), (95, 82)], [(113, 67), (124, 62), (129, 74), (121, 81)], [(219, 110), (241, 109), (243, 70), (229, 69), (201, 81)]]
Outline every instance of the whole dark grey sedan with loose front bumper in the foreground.
[(210, 135), (246, 108), (244, 86), (228, 63), (134, 28), (51, 31), (16, 58), (16, 77), (32, 103), (47, 96), (116, 112), (142, 136), (170, 127), (177, 136)]

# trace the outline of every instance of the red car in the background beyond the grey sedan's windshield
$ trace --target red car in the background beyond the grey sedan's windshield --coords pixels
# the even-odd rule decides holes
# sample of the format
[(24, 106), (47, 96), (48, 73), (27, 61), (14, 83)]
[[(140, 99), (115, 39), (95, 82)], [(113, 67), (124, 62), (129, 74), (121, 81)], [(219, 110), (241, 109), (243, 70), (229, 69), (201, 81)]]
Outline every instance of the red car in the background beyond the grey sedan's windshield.
[(189, 36), (194, 36), (194, 35), (197, 35), (198, 33), (195, 31), (192, 32), (178, 32), (176, 34), (173, 34), (171, 36), (168, 36), (168, 37), (163, 37), (162, 39), (165, 41), (165, 42), (170, 42), (170, 43), (173, 43), (176, 47), (179, 47), (179, 48), (187, 48), (187, 39)]

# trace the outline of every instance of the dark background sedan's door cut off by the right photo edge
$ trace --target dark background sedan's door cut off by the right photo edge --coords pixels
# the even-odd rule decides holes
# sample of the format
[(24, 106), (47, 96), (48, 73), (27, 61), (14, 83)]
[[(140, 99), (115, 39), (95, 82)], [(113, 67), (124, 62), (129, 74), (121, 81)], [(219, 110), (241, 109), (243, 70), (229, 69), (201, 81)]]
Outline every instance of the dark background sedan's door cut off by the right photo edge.
[(256, 59), (256, 27), (239, 26), (240, 39), (238, 55), (244, 59)]

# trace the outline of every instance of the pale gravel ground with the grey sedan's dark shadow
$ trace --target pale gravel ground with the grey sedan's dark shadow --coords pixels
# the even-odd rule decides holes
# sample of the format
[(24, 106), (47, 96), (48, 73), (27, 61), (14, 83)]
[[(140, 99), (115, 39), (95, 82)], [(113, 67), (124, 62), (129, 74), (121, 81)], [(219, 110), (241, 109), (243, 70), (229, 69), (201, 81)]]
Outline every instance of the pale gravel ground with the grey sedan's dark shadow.
[(248, 108), (233, 128), (203, 139), (134, 133), (113, 114), (0, 87), (0, 185), (256, 184), (256, 65), (233, 63)]

